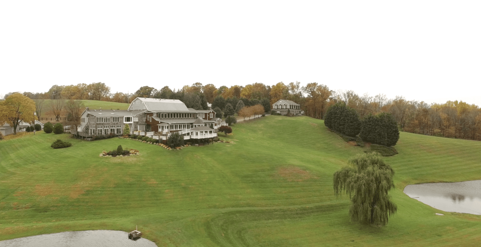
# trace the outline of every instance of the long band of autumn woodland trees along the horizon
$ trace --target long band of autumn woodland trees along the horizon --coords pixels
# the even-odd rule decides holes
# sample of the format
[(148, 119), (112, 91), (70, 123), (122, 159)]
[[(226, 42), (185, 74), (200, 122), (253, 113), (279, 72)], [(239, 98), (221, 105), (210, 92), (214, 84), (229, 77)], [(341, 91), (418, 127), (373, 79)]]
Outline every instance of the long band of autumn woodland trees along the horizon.
[[(6, 99), (12, 95), (8, 93)], [(300, 82), (266, 86), (253, 83), (246, 86), (220, 86), (194, 83), (177, 90), (164, 86), (156, 89), (152, 86), (141, 86), (135, 93), (111, 93), (110, 87), (104, 83), (77, 84), (69, 86), (54, 85), (44, 93), (24, 92), (24, 96), (34, 99), (36, 104), (42, 99), (89, 99), (119, 103), (130, 103), (137, 97), (157, 99), (179, 99), (188, 108), (207, 110), (207, 102), (212, 108), (218, 107), (223, 113), (230, 104), (235, 112), (239, 112), (237, 104), (242, 101), (244, 106), (261, 105), (265, 112), (270, 112), (273, 103), (279, 99), (292, 100), (301, 105), (301, 110), (309, 117), (325, 119), (330, 106), (343, 102), (348, 108), (354, 109), (360, 119), (368, 115), (390, 113), (401, 131), (451, 138), (481, 140), (481, 109), (475, 104), (463, 101), (447, 101), (446, 103), (428, 104), (424, 101), (406, 100), (402, 96), (388, 99), (384, 94), (370, 96), (368, 93), (359, 95), (352, 90), (330, 90), (328, 86), (308, 83), (301, 86)], [(53, 107), (51, 107), (53, 108)], [(55, 111), (58, 112), (58, 111)], [(57, 114), (52, 113), (57, 117)], [(247, 113), (246, 113), (247, 114)], [(39, 117), (39, 116), (38, 116)]]

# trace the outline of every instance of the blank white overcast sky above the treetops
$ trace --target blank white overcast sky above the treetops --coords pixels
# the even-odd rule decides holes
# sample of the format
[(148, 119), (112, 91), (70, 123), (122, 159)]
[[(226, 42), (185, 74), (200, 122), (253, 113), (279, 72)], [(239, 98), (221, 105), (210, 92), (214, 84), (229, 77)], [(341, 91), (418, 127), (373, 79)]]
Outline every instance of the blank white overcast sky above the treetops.
[(300, 81), (481, 106), (481, 1), (0, 2), (0, 94)]

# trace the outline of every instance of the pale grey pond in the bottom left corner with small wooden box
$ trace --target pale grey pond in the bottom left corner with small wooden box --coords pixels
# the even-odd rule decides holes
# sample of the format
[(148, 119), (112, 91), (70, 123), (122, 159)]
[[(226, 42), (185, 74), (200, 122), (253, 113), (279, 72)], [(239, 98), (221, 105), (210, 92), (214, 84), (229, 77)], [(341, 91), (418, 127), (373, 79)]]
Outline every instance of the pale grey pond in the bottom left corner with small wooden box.
[(1, 247), (157, 247), (145, 238), (128, 239), (122, 231), (63, 232), (0, 241)]

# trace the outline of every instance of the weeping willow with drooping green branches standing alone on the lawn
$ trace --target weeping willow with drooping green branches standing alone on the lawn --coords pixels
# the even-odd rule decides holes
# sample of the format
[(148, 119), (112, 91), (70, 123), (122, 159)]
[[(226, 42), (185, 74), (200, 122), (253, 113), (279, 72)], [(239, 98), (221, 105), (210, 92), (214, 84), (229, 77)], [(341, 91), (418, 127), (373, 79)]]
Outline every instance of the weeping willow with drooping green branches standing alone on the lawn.
[(394, 170), (384, 163), (379, 153), (358, 154), (346, 166), (334, 173), (334, 194), (349, 195), (351, 220), (373, 225), (386, 225), (397, 210), (388, 191), (394, 188)]

